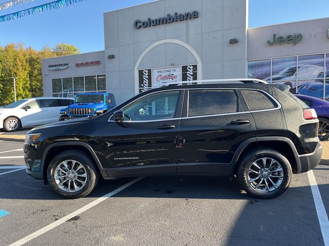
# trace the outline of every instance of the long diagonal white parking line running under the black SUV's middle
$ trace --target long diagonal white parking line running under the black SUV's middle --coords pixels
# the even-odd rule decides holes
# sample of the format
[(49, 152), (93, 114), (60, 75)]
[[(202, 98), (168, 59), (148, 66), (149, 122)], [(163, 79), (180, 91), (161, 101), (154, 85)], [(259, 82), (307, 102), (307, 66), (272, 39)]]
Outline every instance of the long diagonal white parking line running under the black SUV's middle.
[(130, 181), (129, 183), (126, 183), (125, 185), (119, 187), (118, 189), (116, 189), (116, 190), (114, 190), (114, 191), (112, 191), (112, 192), (110, 192), (110, 193), (108, 193), (108, 194), (106, 194), (106, 195), (98, 198), (97, 200), (95, 200), (93, 202), (90, 202), (89, 204), (87, 204), (86, 206), (82, 207), (81, 209), (78, 209), (77, 211), (75, 211), (75, 212), (73, 212), (73, 213), (71, 213), (69, 215), (66, 215), (65, 217), (63, 217), (63, 218), (61, 218), (61, 219), (59, 219), (59, 220), (57, 220), (57, 221), (49, 224), (48, 226), (40, 229), (39, 231), (36, 231), (36, 232), (28, 235), (27, 237), (22, 238), (19, 241), (16, 241), (16, 242), (10, 244), (9, 246), (20, 246), (20, 245), (23, 245), (24, 243), (27, 243), (28, 241), (36, 238), (36, 237), (39, 237), (40, 235), (42, 235), (42, 234), (50, 231), (51, 229), (60, 226), (60, 224), (66, 222), (67, 220), (69, 220), (69, 219), (71, 219), (71, 218), (73, 218), (73, 217), (75, 217), (75, 216), (77, 216), (77, 215), (85, 212), (88, 209), (93, 208), (94, 206), (96, 206), (100, 202), (102, 202), (102, 201), (106, 200), (107, 198), (109, 198), (109, 197), (117, 194), (118, 192), (124, 190), (125, 188), (130, 187), (131, 185), (133, 185), (134, 183), (138, 182), (142, 178), (143, 177), (139, 177), (139, 178), (136, 178), (136, 179)]

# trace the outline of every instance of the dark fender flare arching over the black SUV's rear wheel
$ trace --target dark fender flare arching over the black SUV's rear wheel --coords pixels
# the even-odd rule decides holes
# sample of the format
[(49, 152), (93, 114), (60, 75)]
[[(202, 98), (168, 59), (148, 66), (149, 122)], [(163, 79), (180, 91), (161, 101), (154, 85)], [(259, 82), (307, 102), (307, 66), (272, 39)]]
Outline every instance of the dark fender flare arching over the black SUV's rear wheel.
[(293, 141), (291, 141), (289, 138), (287, 138), (287, 137), (279, 137), (279, 136), (278, 137), (251, 137), (251, 138), (248, 138), (248, 139), (244, 140), (240, 144), (239, 148), (237, 148), (237, 150), (235, 151), (235, 153), (233, 155), (231, 164), (226, 169), (226, 173), (228, 173), (228, 174), (232, 174), (233, 173), (233, 171), (235, 169), (235, 166), (236, 166), (236, 163), (237, 163), (237, 160), (240, 158), (242, 152), (244, 151), (244, 149), (249, 144), (259, 143), (259, 142), (262, 142), (262, 141), (281, 141), (281, 142), (286, 142), (290, 146), (291, 150), (294, 153), (294, 156), (295, 156), (295, 159), (296, 159), (296, 163), (297, 163), (297, 173), (299, 173), (302, 170), (297, 149), (296, 149)]

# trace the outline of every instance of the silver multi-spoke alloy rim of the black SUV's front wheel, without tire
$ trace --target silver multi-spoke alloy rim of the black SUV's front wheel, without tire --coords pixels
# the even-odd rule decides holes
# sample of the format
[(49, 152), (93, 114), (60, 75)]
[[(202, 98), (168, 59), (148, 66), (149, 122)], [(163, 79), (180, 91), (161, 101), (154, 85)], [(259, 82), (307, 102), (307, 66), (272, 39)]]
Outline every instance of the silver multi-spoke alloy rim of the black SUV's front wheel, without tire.
[(65, 192), (80, 191), (87, 182), (87, 171), (76, 160), (64, 160), (58, 164), (54, 172), (57, 186)]

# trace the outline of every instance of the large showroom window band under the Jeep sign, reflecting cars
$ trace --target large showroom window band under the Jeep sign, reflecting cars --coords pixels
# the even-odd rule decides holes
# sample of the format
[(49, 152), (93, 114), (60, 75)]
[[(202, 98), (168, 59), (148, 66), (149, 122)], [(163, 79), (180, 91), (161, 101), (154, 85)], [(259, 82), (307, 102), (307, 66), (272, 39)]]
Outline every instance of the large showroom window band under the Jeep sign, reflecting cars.
[(249, 60), (248, 77), (289, 85), (291, 93), (329, 100), (329, 54)]

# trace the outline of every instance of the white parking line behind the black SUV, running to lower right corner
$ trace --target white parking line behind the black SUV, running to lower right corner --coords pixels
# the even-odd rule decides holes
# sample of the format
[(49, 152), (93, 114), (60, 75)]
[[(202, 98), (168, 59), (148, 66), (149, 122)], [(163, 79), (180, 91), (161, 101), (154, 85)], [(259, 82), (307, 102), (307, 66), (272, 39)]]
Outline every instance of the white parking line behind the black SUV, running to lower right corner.
[(317, 210), (318, 219), (320, 223), (320, 228), (322, 232), (322, 237), (325, 246), (329, 246), (329, 221), (328, 216), (325, 212), (317, 180), (315, 179), (312, 170), (307, 172), (310, 188), (312, 189), (313, 199), (315, 203), (315, 208)]

